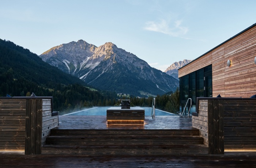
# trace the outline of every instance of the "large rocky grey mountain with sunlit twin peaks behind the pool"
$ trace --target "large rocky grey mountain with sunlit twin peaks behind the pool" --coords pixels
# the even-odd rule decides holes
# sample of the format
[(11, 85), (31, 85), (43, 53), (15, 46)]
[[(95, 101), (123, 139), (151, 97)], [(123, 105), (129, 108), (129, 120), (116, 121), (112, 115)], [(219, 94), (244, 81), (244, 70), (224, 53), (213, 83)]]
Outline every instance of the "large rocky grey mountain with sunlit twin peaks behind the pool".
[(179, 84), (111, 42), (96, 47), (79, 40), (53, 47), (39, 57), (87, 84), (118, 93), (160, 95), (175, 91)]

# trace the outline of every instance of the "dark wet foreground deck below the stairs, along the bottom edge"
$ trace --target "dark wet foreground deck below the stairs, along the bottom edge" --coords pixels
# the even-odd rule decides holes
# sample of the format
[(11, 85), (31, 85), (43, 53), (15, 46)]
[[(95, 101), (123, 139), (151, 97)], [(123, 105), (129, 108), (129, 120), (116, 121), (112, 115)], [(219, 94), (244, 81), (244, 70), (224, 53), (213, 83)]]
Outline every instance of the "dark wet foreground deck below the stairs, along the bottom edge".
[(0, 154), (1, 168), (253, 168), (256, 155), (85, 156)]

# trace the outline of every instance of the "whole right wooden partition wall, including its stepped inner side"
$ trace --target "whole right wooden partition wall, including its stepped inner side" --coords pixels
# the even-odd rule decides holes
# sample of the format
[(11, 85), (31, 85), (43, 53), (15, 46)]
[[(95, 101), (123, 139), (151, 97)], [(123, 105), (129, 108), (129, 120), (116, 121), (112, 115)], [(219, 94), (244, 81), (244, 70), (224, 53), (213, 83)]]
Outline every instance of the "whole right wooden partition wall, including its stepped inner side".
[(256, 151), (255, 98), (197, 98), (192, 125), (199, 129), (209, 154)]

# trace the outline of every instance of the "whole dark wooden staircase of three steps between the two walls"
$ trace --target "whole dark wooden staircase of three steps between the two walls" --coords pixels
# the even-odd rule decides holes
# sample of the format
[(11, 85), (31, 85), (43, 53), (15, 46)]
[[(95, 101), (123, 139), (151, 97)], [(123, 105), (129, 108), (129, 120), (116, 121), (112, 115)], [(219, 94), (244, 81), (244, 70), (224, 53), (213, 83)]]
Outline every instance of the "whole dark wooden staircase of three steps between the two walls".
[(208, 154), (197, 129), (52, 129), (42, 154)]

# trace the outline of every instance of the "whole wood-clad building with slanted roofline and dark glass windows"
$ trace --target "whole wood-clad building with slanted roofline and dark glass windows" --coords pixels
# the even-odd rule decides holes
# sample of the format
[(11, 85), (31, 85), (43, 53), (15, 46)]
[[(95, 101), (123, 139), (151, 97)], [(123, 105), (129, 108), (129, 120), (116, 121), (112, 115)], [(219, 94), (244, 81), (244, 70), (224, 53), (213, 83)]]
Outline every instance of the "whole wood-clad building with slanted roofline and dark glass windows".
[[(178, 70), (181, 110), (188, 98), (256, 94), (256, 23)], [(230, 65), (227, 65), (228, 60)]]

